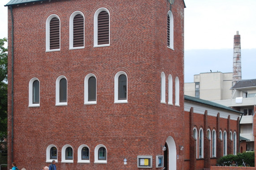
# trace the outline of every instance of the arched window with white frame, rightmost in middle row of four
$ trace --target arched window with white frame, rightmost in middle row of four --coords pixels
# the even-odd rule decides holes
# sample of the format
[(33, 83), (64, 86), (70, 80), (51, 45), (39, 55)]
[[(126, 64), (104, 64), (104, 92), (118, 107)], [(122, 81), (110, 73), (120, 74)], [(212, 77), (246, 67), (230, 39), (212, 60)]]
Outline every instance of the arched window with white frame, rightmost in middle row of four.
[(117, 72), (115, 75), (115, 103), (127, 103), (127, 75), (125, 72)]

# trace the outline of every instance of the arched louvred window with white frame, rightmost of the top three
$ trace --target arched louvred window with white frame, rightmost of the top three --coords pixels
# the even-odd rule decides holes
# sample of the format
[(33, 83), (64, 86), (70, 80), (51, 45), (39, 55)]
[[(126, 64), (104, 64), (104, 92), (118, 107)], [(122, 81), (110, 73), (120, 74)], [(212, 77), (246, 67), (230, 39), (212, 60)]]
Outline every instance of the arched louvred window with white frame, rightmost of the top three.
[(109, 46), (109, 11), (98, 9), (94, 14), (94, 47)]

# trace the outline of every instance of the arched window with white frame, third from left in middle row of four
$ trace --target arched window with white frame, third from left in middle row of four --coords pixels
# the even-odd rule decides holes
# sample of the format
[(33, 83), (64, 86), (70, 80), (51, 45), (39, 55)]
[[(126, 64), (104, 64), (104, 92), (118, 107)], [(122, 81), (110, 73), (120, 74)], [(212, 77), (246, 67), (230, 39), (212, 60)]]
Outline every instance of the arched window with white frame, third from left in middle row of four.
[(94, 74), (88, 74), (84, 80), (84, 104), (96, 104), (97, 81)]

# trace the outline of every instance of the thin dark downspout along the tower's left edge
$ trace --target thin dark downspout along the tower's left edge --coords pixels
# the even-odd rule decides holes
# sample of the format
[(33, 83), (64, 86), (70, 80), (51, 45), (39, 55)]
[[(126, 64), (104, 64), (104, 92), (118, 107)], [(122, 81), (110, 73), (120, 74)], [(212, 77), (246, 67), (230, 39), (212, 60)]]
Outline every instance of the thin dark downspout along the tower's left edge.
[(11, 16), (12, 16), (12, 162), (13, 162), (13, 56), (14, 56), (14, 47), (13, 47), (13, 7), (10, 6)]

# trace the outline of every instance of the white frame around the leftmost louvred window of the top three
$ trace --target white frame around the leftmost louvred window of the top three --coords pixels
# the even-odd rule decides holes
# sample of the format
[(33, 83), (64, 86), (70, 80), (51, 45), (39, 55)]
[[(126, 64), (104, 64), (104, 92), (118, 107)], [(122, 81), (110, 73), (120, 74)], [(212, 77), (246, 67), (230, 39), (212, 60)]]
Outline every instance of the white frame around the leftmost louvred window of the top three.
[[(59, 49), (53, 49), (53, 50), (50, 50), (50, 21), (52, 20), (52, 18), (58, 18), (59, 21), (60, 21), (60, 48)], [(45, 52), (51, 52), (51, 51), (61, 51), (61, 19), (59, 16), (57, 16), (56, 14), (52, 14), (50, 15), (47, 20), (46, 20), (46, 37), (45, 37), (45, 40), (46, 40), (46, 44), (45, 44), (45, 47), (46, 47), (46, 51)]]

